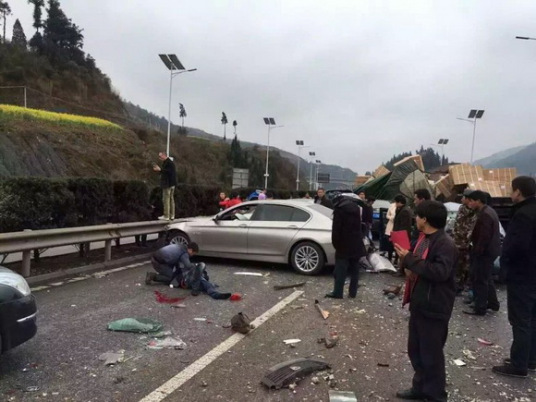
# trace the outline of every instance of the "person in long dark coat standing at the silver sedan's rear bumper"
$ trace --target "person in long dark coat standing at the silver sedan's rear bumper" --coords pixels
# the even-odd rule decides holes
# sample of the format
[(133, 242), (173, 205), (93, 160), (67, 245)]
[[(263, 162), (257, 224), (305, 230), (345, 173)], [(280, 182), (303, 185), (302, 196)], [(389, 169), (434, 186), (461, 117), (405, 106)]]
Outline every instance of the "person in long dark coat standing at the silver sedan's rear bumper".
[(361, 207), (351, 195), (339, 194), (333, 202), (331, 241), (335, 248), (333, 291), (326, 297), (342, 299), (346, 275), (350, 274), (348, 295), (355, 298), (359, 281), (359, 259), (365, 256), (361, 232)]

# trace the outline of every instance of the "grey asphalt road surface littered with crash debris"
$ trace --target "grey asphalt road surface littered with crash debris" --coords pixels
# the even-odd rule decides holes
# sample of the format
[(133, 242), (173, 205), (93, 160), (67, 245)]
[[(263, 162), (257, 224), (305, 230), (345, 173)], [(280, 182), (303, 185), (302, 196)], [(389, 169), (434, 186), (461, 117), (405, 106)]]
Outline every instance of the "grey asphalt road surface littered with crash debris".
[[(358, 401), (393, 401), (397, 390), (410, 385), (408, 312), (398, 298), (390, 300), (382, 292), (401, 284), (399, 278), (362, 273), (357, 299), (329, 300), (323, 298), (331, 289), (329, 271), (304, 277), (284, 266), (210, 260), (211, 281), (222, 291), (242, 294), (241, 301), (231, 302), (145, 286), (148, 269), (138, 264), (35, 291), (38, 333), (0, 357), (0, 400), (327, 402), (330, 390), (341, 390), (354, 392)], [(307, 281), (303, 287), (273, 289), (302, 281)], [(184, 307), (158, 303), (155, 290), (185, 297)], [(536, 399), (536, 375), (513, 379), (491, 372), (508, 355), (511, 342), (505, 296), (500, 290), (501, 311), (486, 317), (462, 314), (457, 299), (446, 346), (450, 401)], [(315, 299), (330, 312), (326, 320)], [(234, 335), (228, 325), (239, 311), (266, 319), (250, 334)], [(127, 317), (161, 322), (186, 347), (151, 349), (150, 335), (106, 329), (109, 322)], [(318, 338), (329, 333), (339, 340), (328, 349)], [(288, 339), (300, 342), (286, 345)], [(121, 351), (124, 361), (116, 365), (99, 360), (103, 353)], [(324, 359), (331, 370), (308, 375), (293, 390), (267, 390), (260, 384), (270, 367), (297, 357)], [(466, 365), (455, 365), (455, 359)]]

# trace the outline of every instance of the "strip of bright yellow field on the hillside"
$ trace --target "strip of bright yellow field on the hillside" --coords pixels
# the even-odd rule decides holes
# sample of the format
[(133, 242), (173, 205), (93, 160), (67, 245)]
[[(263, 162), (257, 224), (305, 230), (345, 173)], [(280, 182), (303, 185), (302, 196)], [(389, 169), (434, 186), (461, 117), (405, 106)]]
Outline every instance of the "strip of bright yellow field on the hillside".
[(122, 130), (123, 128), (111, 121), (97, 117), (80, 116), (68, 113), (55, 113), (46, 110), (29, 109), (13, 105), (0, 104), (0, 119), (13, 117), (22, 120), (47, 120), (53, 123), (80, 127), (99, 127), (104, 129)]

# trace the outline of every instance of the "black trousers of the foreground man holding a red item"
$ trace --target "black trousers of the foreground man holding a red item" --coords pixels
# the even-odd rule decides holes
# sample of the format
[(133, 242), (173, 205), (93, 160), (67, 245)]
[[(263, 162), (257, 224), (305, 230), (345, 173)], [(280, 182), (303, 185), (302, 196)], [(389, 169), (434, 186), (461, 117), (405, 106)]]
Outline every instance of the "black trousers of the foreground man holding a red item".
[(430, 401), (447, 401), (445, 355), (448, 320), (436, 320), (411, 312), (409, 318), (408, 355), (415, 374), (412, 388)]

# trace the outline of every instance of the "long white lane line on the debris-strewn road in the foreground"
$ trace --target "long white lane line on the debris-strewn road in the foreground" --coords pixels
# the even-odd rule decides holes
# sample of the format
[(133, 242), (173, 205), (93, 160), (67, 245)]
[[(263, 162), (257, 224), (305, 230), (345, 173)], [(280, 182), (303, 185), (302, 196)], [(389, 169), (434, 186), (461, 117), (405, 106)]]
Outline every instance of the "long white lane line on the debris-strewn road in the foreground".
[[(252, 324), (255, 325), (255, 328), (258, 328), (260, 325), (268, 321), (272, 316), (277, 314), (277, 312), (281, 311), (283, 308), (285, 308), (288, 304), (292, 303), (302, 294), (303, 294), (303, 291), (300, 291), (300, 290), (295, 291), (291, 295), (285, 297), (283, 300), (281, 300), (271, 309), (264, 312), (261, 316), (257, 317), (252, 322)], [(256, 330), (257, 329), (255, 329), (254, 331)], [(201, 370), (203, 370), (205, 367), (207, 367), (210, 363), (212, 363), (222, 354), (227, 352), (229, 349), (231, 349), (234, 345), (236, 345), (246, 336), (247, 335), (243, 335), (240, 333), (235, 333), (234, 335), (231, 335), (229, 338), (227, 338), (225, 341), (220, 343), (218, 346), (216, 346), (206, 355), (197, 359), (195, 362), (190, 364), (181, 372), (177, 373), (177, 375), (175, 375), (174, 377), (169, 379), (167, 382), (162, 384), (160, 387), (155, 389), (145, 398), (141, 399), (140, 402), (160, 402), (164, 398), (168, 397), (171, 393), (178, 390), (186, 381), (193, 378), (197, 373), (199, 373)]]

